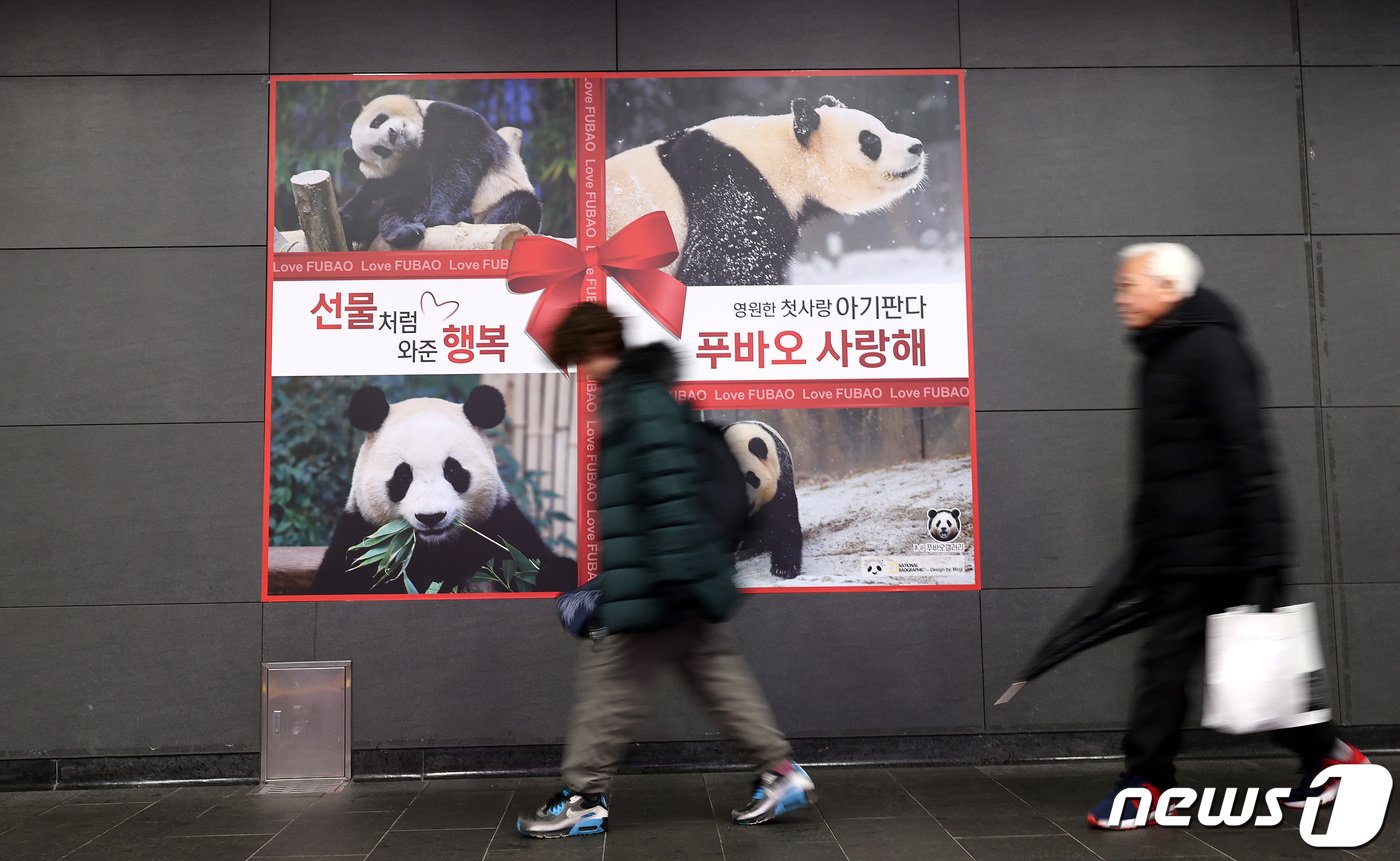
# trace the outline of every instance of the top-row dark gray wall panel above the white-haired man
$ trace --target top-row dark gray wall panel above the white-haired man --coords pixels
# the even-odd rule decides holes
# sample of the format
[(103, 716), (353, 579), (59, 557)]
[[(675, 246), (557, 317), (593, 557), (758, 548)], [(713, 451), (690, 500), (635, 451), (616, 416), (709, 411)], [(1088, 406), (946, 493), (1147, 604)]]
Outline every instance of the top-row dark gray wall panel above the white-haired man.
[(1298, 62), (1288, 0), (962, 0), (959, 11), (969, 69)]

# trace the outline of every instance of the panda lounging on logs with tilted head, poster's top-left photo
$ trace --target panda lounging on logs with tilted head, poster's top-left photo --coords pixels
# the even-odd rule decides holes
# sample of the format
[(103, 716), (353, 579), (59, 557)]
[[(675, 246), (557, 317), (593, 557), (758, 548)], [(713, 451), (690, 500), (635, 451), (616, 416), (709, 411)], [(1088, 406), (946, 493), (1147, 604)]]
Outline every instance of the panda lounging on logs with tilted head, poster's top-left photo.
[(347, 167), (365, 182), (340, 207), (346, 239), (377, 235), (412, 248), (440, 224), (540, 227), (540, 202), (519, 151), (476, 111), (452, 102), (381, 95), (346, 102)]

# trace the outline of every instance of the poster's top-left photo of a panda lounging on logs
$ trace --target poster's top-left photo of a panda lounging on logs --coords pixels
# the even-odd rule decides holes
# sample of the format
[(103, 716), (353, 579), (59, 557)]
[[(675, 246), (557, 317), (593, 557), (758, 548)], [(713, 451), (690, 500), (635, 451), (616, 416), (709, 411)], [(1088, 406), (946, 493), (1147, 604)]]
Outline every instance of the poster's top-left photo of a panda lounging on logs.
[(350, 251), (483, 248), (517, 224), (575, 238), (577, 95), (573, 77), (276, 81), (274, 252), (304, 249), (291, 178), (309, 171), (330, 175)]

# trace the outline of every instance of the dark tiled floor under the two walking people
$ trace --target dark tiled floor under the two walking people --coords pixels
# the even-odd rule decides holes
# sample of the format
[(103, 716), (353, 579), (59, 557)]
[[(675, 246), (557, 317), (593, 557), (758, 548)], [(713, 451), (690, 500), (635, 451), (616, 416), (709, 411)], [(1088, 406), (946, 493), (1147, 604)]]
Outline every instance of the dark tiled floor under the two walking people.
[[(1375, 757), (1392, 771), (1400, 757)], [(553, 778), (354, 784), (329, 795), (256, 795), (256, 787), (0, 792), (4, 861), (885, 861), (976, 858), (1400, 860), (1400, 813), (1357, 850), (1315, 850), (1298, 815), (1273, 829), (1095, 832), (1084, 813), (1116, 763), (942, 769), (812, 769), (822, 801), (760, 827), (729, 823), (745, 774), (631, 774), (612, 791), (601, 837), (526, 840), (515, 815)], [(1274, 787), (1287, 760), (1182, 763), (1194, 787)], [(1400, 808), (1400, 805), (1393, 805)]]

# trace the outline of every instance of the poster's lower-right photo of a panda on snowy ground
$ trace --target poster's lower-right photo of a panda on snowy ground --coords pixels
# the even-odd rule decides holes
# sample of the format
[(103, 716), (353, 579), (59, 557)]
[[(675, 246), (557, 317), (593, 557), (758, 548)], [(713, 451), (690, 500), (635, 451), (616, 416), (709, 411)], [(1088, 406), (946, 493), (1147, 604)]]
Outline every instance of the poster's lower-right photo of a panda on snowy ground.
[(727, 406), (701, 409), (746, 482), (741, 588), (976, 581), (969, 407)]

